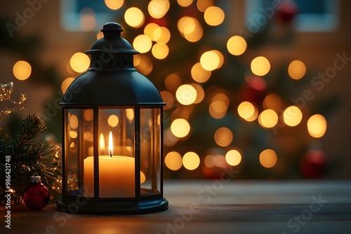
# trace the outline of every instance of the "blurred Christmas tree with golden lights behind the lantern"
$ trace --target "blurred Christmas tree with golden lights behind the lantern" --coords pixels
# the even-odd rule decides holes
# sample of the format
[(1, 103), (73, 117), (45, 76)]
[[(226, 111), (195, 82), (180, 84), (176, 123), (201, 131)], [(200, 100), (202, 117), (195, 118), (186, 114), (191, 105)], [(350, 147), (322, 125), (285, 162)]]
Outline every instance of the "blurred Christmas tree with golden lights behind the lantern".
[(294, 1), (279, 1), (260, 12), (265, 22), (233, 35), (226, 33), (230, 1), (117, 2), (105, 1), (123, 11), (116, 22), (140, 52), (135, 67), (166, 102), (166, 178), (218, 178), (225, 167), (242, 179), (323, 176), (318, 138), (336, 100), (305, 91), (313, 71), (298, 57), (271, 64), (246, 56), (293, 43)]

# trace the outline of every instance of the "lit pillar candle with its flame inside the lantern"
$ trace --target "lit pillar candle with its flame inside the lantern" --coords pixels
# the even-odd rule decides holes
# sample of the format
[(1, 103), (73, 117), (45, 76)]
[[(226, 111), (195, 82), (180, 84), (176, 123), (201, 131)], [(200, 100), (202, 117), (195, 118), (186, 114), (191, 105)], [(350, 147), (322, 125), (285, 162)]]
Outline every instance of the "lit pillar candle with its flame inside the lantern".
[[(113, 155), (112, 132), (109, 137), (110, 156), (99, 156), (100, 198), (133, 198), (135, 196), (135, 160)], [(94, 193), (94, 158), (84, 159), (84, 195)]]

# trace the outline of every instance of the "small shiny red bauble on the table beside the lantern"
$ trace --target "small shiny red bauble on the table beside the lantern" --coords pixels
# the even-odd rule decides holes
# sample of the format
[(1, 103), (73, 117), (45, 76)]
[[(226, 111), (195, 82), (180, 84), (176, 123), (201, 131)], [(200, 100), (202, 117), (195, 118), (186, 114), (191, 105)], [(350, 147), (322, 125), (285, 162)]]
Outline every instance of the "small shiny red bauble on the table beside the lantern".
[(41, 183), (41, 177), (38, 175), (30, 177), (30, 184), (25, 188), (23, 200), (25, 205), (33, 210), (40, 210), (48, 205), (50, 191), (45, 184)]

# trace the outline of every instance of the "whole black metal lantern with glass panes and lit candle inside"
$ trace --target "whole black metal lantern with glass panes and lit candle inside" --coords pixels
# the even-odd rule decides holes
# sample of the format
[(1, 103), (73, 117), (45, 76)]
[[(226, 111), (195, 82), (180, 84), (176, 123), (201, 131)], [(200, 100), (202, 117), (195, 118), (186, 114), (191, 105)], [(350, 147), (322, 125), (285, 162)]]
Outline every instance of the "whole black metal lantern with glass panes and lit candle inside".
[(163, 197), (165, 103), (154, 84), (133, 67), (121, 25), (109, 22), (86, 54), (91, 68), (62, 99), (60, 211), (142, 214), (168, 208)]

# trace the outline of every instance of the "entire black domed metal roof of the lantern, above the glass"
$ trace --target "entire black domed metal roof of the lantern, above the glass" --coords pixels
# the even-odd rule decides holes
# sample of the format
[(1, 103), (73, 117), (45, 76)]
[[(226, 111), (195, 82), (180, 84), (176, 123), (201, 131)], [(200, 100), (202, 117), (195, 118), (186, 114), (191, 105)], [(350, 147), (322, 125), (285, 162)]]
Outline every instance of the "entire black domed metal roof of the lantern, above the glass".
[(138, 54), (115, 22), (105, 24), (91, 50), (91, 68), (67, 88), (62, 106), (164, 106), (156, 86), (133, 66)]

